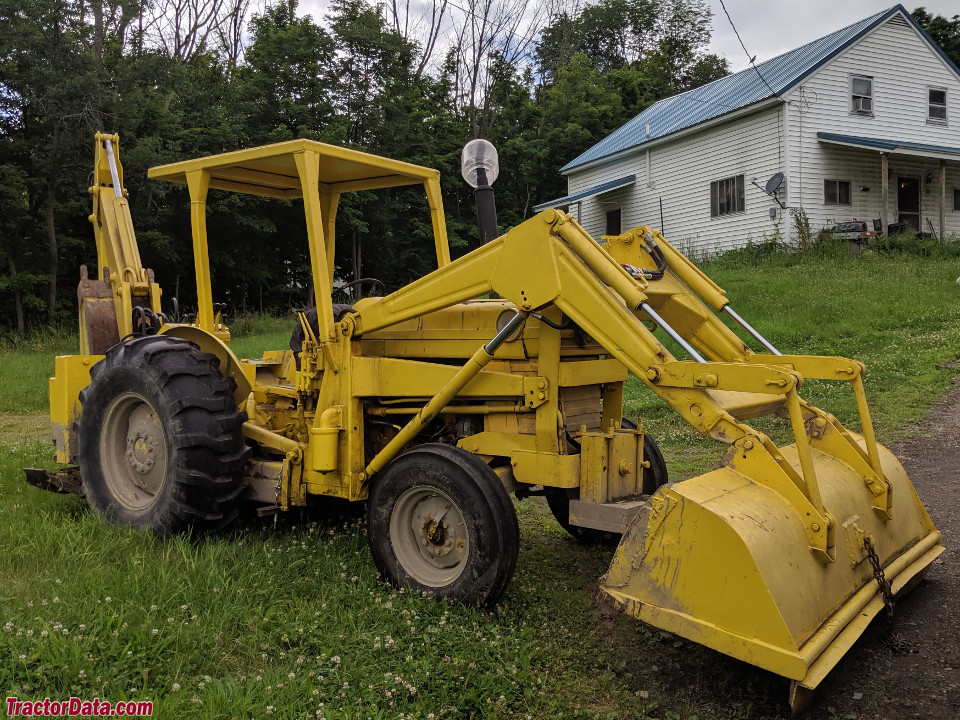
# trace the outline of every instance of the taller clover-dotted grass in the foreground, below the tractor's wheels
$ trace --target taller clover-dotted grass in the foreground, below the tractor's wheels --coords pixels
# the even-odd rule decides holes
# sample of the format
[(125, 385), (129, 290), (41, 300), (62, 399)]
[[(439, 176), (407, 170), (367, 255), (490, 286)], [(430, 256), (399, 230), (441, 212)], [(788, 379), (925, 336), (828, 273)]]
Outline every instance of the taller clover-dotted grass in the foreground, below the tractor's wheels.
[(516, 579), (485, 613), (382, 583), (356, 513), (158, 540), (26, 486), (19, 468), (48, 456), (0, 453), (7, 695), (149, 699), (178, 718), (644, 718), (663, 702), (656, 667), (623, 653), (675, 655), (673, 638), (598, 624), (610, 551), (575, 546), (539, 504), (520, 508)]

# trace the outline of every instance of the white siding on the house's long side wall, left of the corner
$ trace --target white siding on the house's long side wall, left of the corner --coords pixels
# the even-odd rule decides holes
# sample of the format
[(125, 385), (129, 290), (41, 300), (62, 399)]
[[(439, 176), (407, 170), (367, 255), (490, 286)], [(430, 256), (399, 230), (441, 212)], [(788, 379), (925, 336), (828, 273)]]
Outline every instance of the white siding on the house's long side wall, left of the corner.
[[(571, 194), (625, 175), (635, 174), (627, 188), (586, 198), (580, 205), (580, 223), (594, 237), (606, 231), (608, 210), (622, 207), (622, 229), (636, 225), (660, 227), (660, 200), (663, 200), (663, 227), (667, 239), (694, 256), (713, 255), (748, 242), (760, 243), (770, 237), (781, 222), (770, 218), (776, 204), (751, 184), (762, 187), (776, 172), (783, 171), (779, 107), (707, 128), (672, 142), (613, 163), (570, 175)], [(710, 217), (710, 183), (743, 175), (744, 212)], [(577, 209), (571, 207), (575, 215)], [(783, 232), (785, 228), (781, 228)]]

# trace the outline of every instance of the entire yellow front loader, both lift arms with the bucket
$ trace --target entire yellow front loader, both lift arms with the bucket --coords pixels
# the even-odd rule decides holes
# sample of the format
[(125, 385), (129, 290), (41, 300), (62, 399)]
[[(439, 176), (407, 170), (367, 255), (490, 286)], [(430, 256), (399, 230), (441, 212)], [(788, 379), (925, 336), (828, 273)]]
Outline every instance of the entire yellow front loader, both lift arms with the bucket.
[[(611, 254), (623, 249), (617, 243), (608, 242), (608, 252), (569, 216), (545, 211), (359, 307), (353, 332), (489, 292), (521, 313), (556, 307), (698, 432), (728, 444), (720, 469), (661, 488), (641, 509), (600, 588), (639, 619), (790, 678), (799, 708), (883, 607), (867, 556), (882, 546), (880, 562), (902, 589), (943, 551), (941, 536), (903, 468), (876, 442), (864, 366), (754, 354), (707, 307), (737, 319), (725, 293), (658, 240), (668, 271), (647, 282), (621, 267), (622, 257)], [(681, 331), (668, 325), (674, 318)], [(695, 360), (677, 360), (645, 326), (649, 320), (679, 336)], [(474, 360), (473, 370), (470, 363), (461, 370), (461, 383), (482, 367)], [(805, 377), (851, 384), (862, 436), (801, 400)], [(780, 448), (741, 422), (758, 409), (785, 416), (794, 444)], [(388, 460), (376, 458), (371, 469)], [(733, 577), (738, 581), (728, 584)]]

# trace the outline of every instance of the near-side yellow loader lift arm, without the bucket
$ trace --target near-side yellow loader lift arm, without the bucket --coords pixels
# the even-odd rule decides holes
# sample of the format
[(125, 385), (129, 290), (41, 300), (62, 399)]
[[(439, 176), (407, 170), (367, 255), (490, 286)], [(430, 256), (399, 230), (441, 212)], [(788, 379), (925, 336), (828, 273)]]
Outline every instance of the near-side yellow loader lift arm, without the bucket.
[[(527, 270), (531, 257), (538, 259), (536, 273)], [(740, 358), (739, 362), (678, 361), (640, 320), (647, 311), (652, 312), (641, 282), (631, 277), (569, 216), (544, 211), (450, 265), (392, 295), (363, 305), (352, 318), (354, 334), (373, 332), (489, 292), (510, 300), (523, 312), (556, 306), (698, 432), (727, 444), (747, 444), (755, 449), (754, 454), (766, 454), (765, 464), (769, 469), (757, 481), (787, 497), (799, 513), (810, 518), (805, 526), (810, 546), (816, 548), (825, 561), (832, 560), (835, 521), (823, 506), (810, 457), (803, 413), (805, 408), (811, 417), (816, 413), (809, 406), (801, 405), (798, 389), (803, 377), (793, 368), (761, 364), (771, 358), (752, 354), (749, 357), (754, 362), (743, 362)], [(662, 318), (658, 319), (664, 323)], [(714, 334), (731, 345), (732, 341), (723, 332), (736, 336), (712, 316), (703, 322), (710, 320), (722, 328), (722, 331), (714, 330)], [(483, 365), (472, 362), (475, 375)], [(780, 358), (777, 362), (781, 362)], [(862, 366), (846, 362), (856, 369), (859, 380)], [(817, 359), (795, 358), (794, 363), (804, 368), (818, 367)], [(473, 375), (462, 375), (460, 388)], [(712, 390), (781, 398), (793, 425), (801, 472), (784, 459), (768, 437), (728, 413)], [(449, 388), (446, 394), (450, 394)], [(419, 421), (422, 423), (425, 418)], [(408, 438), (413, 429), (406, 433)], [(396, 443), (385, 449), (370, 463), (368, 474), (386, 465), (402, 446)], [(856, 461), (862, 455), (852, 441), (842, 449), (849, 461)], [(885, 482), (882, 474), (879, 478), (877, 483)]]

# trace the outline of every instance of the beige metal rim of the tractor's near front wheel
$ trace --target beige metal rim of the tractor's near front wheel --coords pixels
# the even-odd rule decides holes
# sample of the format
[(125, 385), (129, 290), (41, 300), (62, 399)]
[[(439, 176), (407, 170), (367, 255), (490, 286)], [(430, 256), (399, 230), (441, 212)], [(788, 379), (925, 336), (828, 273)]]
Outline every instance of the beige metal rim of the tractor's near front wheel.
[(470, 555), (463, 513), (433, 487), (413, 487), (400, 496), (390, 514), (390, 538), (403, 569), (429, 587), (454, 582)]

